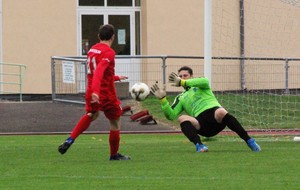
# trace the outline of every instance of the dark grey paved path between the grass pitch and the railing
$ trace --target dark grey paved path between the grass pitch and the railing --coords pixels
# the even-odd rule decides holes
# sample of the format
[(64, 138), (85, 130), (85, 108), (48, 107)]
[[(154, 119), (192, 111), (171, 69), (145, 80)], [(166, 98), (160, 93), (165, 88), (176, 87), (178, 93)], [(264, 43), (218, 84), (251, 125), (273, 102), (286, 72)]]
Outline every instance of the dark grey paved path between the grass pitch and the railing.
[[(131, 103), (132, 104), (132, 103)], [(130, 101), (122, 101), (122, 106), (136, 106)], [(85, 113), (84, 105), (69, 103), (38, 102), (0, 102), (0, 134), (59, 134), (70, 133), (80, 117)], [(151, 114), (151, 113), (150, 113)], [(121, 117), (123, 133), (176, 132), (174, 127), (161, 124), (141, 125), (131, 121), (130, 112)], [(95, 120), (87, 133), (107, 133), (109, 124), (103, 113)]]

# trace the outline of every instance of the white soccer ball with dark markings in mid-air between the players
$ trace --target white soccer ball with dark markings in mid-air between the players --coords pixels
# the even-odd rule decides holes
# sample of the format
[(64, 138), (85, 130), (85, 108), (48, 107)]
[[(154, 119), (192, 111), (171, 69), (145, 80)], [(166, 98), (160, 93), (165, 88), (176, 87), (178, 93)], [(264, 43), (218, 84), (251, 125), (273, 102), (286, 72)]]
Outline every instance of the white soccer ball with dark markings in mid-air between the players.
[(149, 96), (150, 88), (147, 84), (138, 82), (131, 87), (130, 94), (136, 101), (143, 101)]

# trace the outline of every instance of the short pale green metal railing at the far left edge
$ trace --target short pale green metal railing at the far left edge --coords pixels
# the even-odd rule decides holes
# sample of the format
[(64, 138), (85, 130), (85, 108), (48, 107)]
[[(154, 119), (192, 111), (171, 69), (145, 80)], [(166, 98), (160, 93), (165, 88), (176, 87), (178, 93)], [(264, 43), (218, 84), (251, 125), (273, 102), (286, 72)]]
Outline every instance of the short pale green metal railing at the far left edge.
[(23, 101), (23, 77), (26, 65), (14, 63), (0, 63), (0, 95), (19, 94), (20, 102)]

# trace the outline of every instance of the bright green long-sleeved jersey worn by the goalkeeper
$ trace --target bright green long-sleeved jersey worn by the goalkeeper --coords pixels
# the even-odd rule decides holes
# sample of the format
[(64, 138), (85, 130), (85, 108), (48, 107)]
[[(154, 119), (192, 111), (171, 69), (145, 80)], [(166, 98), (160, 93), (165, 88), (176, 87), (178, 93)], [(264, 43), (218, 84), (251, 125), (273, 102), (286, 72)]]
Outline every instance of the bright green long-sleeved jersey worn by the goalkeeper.
[(176, 96), (172, 105), (166, 99), (161, 101), (162, 111), (169, 120), (176, 119), (182, 111), (197, 117), (203, 111), (221, 107), (213, 94), (207, 78), (193, 78), (185, 82), (185, 90)]

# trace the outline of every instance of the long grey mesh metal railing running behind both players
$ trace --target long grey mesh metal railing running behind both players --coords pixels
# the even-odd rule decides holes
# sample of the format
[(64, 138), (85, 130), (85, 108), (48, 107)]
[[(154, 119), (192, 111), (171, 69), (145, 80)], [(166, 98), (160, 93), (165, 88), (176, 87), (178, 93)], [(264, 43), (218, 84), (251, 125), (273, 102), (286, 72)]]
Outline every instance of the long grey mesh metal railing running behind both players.
[[(288, 94), (291, 89), (296, 89), (299, 93), (299, 58), (212, 57), (212, 59), (211, 85), (214, 91), (276, 90)], [(73, 63), (74, 84), (63, 81), (64, 61)], [(84, 103), (85, 61), (86, 57), (51, 57), (52, 100)], [(136, 82), (151, 85), (159, 81), (166, 84), (168, 73), (176, 72), (183, 65), (191, 66), (194, 69), (194, 76), (204, 75), (204, 57), (200, 56), (116, 56), (116, 62), (116, 74), (129, 76), (130, 86)], [(176, 90), (167, 86), (169, 92)]]

